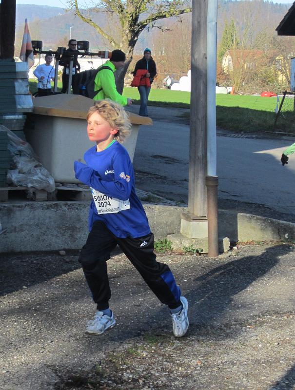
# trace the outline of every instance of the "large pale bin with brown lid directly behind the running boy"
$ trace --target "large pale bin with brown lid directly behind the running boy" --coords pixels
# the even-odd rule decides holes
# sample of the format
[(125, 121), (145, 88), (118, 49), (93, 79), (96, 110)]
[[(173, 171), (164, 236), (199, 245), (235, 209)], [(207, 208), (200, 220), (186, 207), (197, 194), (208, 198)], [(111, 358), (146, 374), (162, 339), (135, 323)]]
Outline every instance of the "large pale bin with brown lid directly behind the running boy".
[[(33, 99), (34, 110), (25, 129), (27, 141), (41, 164), (56, 182), (79, 183), (74, 161), (81, 159), (94, 142), (86, 133), (86, 115), (93, 100), (80, 95), (51, 95)], [(130, 113), (132, 131), (123, 146), (133, 160), (140, 124), (151, 125), (150, 118)]]

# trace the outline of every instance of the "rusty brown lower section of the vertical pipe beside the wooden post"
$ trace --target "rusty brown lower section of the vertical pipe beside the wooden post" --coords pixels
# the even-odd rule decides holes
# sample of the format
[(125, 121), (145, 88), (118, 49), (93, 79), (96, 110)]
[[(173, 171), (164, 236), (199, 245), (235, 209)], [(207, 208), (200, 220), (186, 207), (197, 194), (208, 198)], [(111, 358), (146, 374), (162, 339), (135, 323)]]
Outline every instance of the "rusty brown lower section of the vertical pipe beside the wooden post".
[(209, 257), (218, 256), (218, 176), (206, 176), (208, 200), (208, 247)]

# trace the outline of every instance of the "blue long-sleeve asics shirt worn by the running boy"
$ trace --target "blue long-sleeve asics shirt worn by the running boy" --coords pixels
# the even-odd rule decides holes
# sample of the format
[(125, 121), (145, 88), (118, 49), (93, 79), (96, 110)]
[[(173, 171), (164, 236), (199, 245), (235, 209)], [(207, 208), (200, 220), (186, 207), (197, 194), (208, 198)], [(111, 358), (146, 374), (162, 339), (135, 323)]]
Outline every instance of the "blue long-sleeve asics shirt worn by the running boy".
[[(151, 232), (145, 211), (135, 192), (134, 170), (126, 149), (117, 141), (111, 146), (97, 152), (97, 147), (89, 149), (84, 160), (87, 165), (75, 161), (74, 168), (76, 178), (92, 189), (105, 196), (104, 205), (111, 204), (109, 198), (122, 200), (126, 206), (129, 199), (130, 208), (105, 214), (99, 214), (94, 200), (90, 204), (88, 228), (92, 229), (95, 221), (100, 220), (117, 237), (141, 237)], [(100, 202), (98, 202), (100, 204)], [(110, 209), (111, 210), (111, 209)]]

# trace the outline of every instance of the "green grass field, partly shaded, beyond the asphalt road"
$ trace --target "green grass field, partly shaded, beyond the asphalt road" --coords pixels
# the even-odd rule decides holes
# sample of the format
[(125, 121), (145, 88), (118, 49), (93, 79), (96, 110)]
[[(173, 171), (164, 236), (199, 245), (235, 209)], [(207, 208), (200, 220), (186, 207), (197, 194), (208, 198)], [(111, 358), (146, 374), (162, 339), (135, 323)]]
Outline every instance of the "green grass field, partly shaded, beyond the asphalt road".
[[(59, 83), (61, 87), (61, 83)], [(30, 82), (31, 92), (35, 92), (36, 82)], [(123, 95), (139, 103), (137, 88), (124, 88)], [(149, 96), (150, 106), (190, 108), (190, 92), (171, 91), (168, 89), (152, 89)], [(280, 98), (281, 99), (281, 98)], [(217, 126), (236, 132), (283, 132), (295, 134), (294, 99), (285, 99), (283, 115), (280, 115), (276, 126), (276, 98), (262, 98), (251, 95), (216, 95)], [(184, 119), (189, 119), (189, 112)]]

